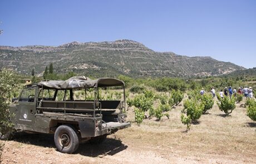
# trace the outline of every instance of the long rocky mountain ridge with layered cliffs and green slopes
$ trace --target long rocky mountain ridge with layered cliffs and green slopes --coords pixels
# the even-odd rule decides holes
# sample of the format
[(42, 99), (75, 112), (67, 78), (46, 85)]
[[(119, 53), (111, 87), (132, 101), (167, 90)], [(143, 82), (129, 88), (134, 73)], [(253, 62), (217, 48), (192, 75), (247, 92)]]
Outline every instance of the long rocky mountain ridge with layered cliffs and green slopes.
[(20, 73), (37, 73), (53, 63), (55, 71), (75, 71), (87, 76), (209, 76), (244, 69), (211, 57), (187, 57), (173, 52), (155, 52), (130, 40), (114, 42), (72, 42), (53, 46), (0, 46), (0, 68)]

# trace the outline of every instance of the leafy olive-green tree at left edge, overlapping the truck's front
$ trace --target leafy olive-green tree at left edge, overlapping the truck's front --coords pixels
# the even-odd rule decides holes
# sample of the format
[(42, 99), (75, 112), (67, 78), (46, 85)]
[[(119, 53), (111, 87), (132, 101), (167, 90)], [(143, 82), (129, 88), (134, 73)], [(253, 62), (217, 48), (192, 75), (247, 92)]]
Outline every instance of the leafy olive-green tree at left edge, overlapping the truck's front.
[(8, 105), (14, 88), (16, 88), (16, 82), (13, 72), (2, 69), (0, 71), (0, 137), (2, 137), (1, 134), (8, 133), (13, 126)]

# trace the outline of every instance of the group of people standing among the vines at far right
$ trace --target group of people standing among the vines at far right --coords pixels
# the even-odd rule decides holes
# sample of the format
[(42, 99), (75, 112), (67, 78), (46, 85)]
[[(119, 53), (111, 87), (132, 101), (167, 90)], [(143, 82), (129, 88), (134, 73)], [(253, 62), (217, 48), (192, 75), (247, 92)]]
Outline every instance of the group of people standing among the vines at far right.
[[(213, 95), (213, 98), (215, 97), (215, 89), (214, 87), (211, 87), (211, 95)], [(200, 95), (204, 95), (205, 91), (204, 88), (201, 89), (200, 91)], [(223, 90), (220, 90), (219, 95), (221, 98), (225, 96), (229, 96), (230, 98), (234, 95), (235, 97), (237, 96), (237, 94), (240, 95), (244, 95), (245, 97), (249, 97), (249, 98), (253, 98), (253, 88), (252, 87), (239, 87), (238, 91), (237, 89), (234, 88), (234, 90), (232, 89), (231, 86), (225, 87), (224, 88), (224, 92)]]

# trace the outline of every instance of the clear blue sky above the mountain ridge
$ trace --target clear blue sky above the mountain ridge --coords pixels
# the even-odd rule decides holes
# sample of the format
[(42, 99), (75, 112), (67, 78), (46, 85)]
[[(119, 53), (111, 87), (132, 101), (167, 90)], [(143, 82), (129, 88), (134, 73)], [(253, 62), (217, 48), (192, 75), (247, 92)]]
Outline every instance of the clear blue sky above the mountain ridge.
[(256, 1), (0, 2), (1, 46), (132, 39), (159, 52), (256, 67)]

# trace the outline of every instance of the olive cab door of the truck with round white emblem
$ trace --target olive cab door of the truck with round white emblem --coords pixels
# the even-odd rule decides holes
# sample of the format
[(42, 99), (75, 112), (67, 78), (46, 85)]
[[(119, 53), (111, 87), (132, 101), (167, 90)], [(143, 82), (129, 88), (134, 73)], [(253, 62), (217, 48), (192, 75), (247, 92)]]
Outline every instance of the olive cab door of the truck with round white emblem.
[(22, 90), (17, 102), (16, 118), (19, 127), (23, 130), (33, 130), (36, 111), (36, 87), (27, 87)]

